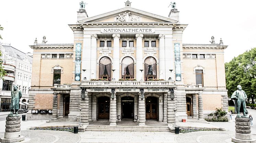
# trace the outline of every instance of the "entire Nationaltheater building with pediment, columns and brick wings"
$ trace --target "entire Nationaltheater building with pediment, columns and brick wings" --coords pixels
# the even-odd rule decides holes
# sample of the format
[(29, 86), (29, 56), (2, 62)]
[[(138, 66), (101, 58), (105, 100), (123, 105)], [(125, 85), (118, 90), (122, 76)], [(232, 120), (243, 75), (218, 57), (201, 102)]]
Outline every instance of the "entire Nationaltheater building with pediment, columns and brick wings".
[(84, 7), (70, 24), (73, 44), (35, 41), (27, 119), (123, 119), (172, 124), (228, 111), (224, 49), (184, 44), (187, 24), (174, 7), (168, 17), (131, 7), (88, 17)]

